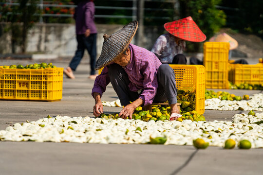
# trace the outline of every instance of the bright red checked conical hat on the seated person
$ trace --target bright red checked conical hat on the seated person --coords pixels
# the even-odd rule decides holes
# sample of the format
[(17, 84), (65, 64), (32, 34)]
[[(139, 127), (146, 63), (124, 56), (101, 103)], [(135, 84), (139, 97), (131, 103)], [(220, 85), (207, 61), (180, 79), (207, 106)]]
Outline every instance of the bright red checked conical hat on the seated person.
[(178, 19), (164, 24), (165, 30), (171, 35), (181, 39), (202, 42), (205, 41), (207, 36), (199, 29), (192, 17)]

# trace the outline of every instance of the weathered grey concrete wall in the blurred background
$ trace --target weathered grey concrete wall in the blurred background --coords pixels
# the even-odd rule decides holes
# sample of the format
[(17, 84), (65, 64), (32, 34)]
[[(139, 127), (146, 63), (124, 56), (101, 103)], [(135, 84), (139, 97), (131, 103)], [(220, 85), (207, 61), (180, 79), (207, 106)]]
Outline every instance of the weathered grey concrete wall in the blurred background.
[[(112, 34), (121, 29), (123, 25), (96, 25), (97, 34), (97, 53), (100, 55), (103, 35)], [(144, 47), (151, 49), (155, 40), (164, 32), (162, 26), (144, 27), (144, 37), (139, 38), (143, 40)], [(132, 40), (132, 44), (136, 44), (136, 35)], [(76, 50), (75, 39), (75, 25), (74, 24), (36, 24), (33, 29), (29, 31), (27, 37), (27, 53), (46, 53), (56, 54), (58, 56), (73, 56)], [(11, 50), (11, 35), (10, 32), (2, 33), (0, 36), (0, 53), (12, 53)], [(16, 53), (19, 53), (19, 47), (16, 47)]]

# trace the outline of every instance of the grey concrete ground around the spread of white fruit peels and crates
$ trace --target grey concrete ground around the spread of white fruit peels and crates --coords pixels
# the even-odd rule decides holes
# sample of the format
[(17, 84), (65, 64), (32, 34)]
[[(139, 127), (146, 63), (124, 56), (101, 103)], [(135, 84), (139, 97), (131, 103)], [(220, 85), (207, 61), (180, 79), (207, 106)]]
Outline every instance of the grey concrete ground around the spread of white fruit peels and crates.
[[(39, 61), (0, 60), (0, 66), (32, 62)], [(64, 68), (68, 65), (68, 60), (46, 62)], [(89, 70), (89, 64), (84, 60), (75, 72), (75, 80), (64, 77), (61, 101), (0, 100), (0, 130), (47, 115), (92, 117), (94, 80), (88, 79)], [(236, 95), (262, 93), (260, 90), (225, 91)], [(102, 100), (116, 99), (109, 85)], [(120, 110), (120, 107), (104, 107), (105, 113)], [(207, 121), (231, 121), (236, 113), (243, 111), (206, 110), (204, 115)], [(0, 141), (0, 175), (262, 175), (262, 162), (263, 149), (224, 150), (210, 146), (206, 150), (196, 150), (193, 146), (176, 145)]]

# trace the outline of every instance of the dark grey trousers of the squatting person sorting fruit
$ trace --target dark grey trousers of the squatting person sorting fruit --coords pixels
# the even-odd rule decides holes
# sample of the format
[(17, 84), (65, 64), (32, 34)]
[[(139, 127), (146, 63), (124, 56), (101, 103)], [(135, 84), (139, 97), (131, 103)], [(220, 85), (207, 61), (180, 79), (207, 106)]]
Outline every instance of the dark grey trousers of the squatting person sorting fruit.
[[(109, 66), (109, 76), (113, 89), (120, 99), (121, 105), (128, 105), (130, 102), (139, 98), (141, 93), (133, 92), (128, 85), (130, 80), (126, 71), (118, 64)], [(158, 88), (153, 102), (166, 102), (169, 104), (177, 103), (177, 88), (173, 69), (168, 64), (162, 64), (157, 71)]]

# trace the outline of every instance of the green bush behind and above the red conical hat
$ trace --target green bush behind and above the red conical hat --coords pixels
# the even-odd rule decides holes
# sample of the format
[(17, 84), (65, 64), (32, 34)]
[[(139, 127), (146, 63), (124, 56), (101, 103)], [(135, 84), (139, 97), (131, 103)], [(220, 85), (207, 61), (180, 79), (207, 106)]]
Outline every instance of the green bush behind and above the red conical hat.
[[(209, 39), (225, 25), (224, 11), (218, 10), (216, 5), (221, 0), (179, 0), (181, 18), (191, 16), (198, 27)], [(187, 43), (188, 52), (200, 52), (202, 43)]]

